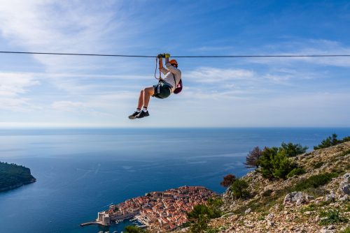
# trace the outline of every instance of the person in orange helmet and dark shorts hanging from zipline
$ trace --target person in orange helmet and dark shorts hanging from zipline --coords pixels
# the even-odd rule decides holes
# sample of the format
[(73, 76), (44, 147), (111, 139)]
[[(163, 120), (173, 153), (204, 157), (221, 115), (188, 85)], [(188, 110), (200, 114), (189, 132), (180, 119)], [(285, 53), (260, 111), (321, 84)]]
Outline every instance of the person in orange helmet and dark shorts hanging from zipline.
[[(177, 61), (175, 59), (169, 61), (170, 54), (158, 54), (157, 57), (159, 59), (159, 69), (165, 77), (160, 77), (157, 85), (146, 87), (141, 90), (137, 109), (129, 116), (129, 119), (143, 118), (150, 115), (147, 107), (151, 96), (156, 98), (167, 98), (171, 93), (179, 93), (182, 89), (181, 71), (177, 68)], [(165, 66), (167, 68), (163, 67), (162, 58), (164, 57)]]

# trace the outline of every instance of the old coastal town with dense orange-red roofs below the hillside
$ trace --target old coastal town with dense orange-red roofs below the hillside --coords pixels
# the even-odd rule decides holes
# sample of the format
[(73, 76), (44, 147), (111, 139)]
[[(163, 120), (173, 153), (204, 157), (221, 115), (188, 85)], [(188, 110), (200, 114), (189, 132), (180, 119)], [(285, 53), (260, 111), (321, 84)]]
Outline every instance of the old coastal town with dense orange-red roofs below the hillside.
[(99, 212), (97, 223), (111, 225), (134, 218), (146, 227), (173, 230), (188, 221), (186, 213), (192, 211), (193, 206), (205, 204), (215, 196), (216, 193), (203, 186), (183, 186), (164, 192), (146, 193)]

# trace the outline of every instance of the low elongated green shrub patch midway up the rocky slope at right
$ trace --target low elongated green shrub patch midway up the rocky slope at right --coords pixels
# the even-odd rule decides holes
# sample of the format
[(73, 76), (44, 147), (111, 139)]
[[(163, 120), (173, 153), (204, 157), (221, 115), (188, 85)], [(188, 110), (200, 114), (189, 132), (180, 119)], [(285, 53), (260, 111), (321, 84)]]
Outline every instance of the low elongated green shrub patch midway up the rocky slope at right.
[(326, 183), (337, 177), (337, 173), (321, 173), (314, 176), (310, 176), (307, 179), (302, 179), (297, 182), (293, 188), (295, 191), (306, 190), (307, 188), (317, 188), (318, 186), (324, 186)]

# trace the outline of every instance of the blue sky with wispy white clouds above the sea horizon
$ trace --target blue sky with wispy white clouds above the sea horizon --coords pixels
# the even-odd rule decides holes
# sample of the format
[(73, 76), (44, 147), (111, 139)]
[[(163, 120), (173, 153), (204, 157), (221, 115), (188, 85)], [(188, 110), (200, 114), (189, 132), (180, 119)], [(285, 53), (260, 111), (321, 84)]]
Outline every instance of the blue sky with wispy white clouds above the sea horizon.
[[(0, 50), (156, 55), (350, 54), (349, 1), (6, 1)], [(178, 59), (151, 99), (151, 58), (0, 54), (0, 127), (349, 127), (350, 58)]]

